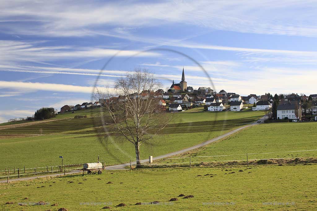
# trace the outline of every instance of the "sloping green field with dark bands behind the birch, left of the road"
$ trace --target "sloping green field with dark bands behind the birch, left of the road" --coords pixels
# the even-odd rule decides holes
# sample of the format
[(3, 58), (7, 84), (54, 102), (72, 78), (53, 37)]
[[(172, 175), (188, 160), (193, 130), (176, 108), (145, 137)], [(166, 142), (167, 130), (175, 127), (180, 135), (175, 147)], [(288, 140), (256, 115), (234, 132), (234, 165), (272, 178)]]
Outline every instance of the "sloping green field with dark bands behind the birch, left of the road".
[[(141, 145), (142, 159), (174, 152), (217, 137), (262, 117), (264, 112), (197, 112), (178, 113), (171, 124), (150, 143)], [(24, 134), (29, 137), (0, 140), (0, 169), (22, 168), (24, 165), (57, 165), (59, 156), (66, 164), (95, 161), (97, 155), (107, 165), (135, 160), (133, 145), (120, 142), (122, 137), (103, 137), (97, 134), (93, 120), (66, 119), (26, 127), (0, 130), (0, 135)], [(42, 136), (39, 134), (42, 128)], [(115, 140), (115, 143), (113, 143)]]

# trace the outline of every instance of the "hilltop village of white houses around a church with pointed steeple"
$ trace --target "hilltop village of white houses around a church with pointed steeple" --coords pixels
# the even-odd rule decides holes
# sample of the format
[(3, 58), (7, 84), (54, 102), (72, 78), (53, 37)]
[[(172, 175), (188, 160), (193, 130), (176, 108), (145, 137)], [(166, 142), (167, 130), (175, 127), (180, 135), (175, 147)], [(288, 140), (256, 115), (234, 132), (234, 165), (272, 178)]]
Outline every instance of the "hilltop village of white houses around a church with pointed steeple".
[(99, 107), (105, 102), (120, 102), (137, 97), (159, 99), (159, 105), (164, 107), (166, 112), (181, 112), (195, 107), (204, 107), (205, 111), (267, 110), (271, 111), (268, 112), (268, 116), (276, 120), (317, 121), (317, 94), (300, 96), (292, 93), (272, 96), (270, 93), (265, 93), (264, 95), (241, 96), (225, 90), (216, 92), (210, 87), (194, 89), (192, 86), (187, 86), (184, 68), (181, 81), (175, 84), (173, 80), (171, 87), (166, 91), (163, 89), (143, 90), (141, 93), (99, 99), (96, 102), (83, 102), (75, 106), (64, 105), (59, 113), (75, 112), (80, 109)]

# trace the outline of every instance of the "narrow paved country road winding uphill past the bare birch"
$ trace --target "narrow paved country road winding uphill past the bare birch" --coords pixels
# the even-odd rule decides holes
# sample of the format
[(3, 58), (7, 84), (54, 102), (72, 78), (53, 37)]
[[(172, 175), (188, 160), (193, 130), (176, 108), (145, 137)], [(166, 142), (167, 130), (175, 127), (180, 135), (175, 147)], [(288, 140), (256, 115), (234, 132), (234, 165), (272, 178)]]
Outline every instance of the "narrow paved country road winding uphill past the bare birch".
[[(186, 149), (178, 150), (176, 152), (171, 152), (171, 153), (168, 153), (168, 154), (165, 154), (165, 155), (160, 155), (160, 156), (154, 157), (153, 160), (158, 160), (158, 159), (162, 159), (162, 158), (168, 158), (168, 157), (171, 157), (171, 156), (174, 156), (174, 155), (177, 155), (177, 154), (181, 154), (181, 153), (184, 153), (184, 152), (191, 151), (193, 149), (197, 149), (197, 148), (202, 147), (202, 146), (206, 146), (207, 144), (210, 144), (210, 143), (215, 142), (217, 140), (223, 139), (223, 138), (225, 138), (227, 136), (230, 136), (230, 135), (232, 135), (232, 134), (234, 134), (234, 133), (236, 133), (236, 132), (238, 132), (240, 130), (243, 130), (243, 129), (247, 128), (247, 127), (250, 127), (252, 125), (262, 124), (264, 120), (265, 120), (265, 117), (263, 116), (261, 118), (261, 123), (255, 122), (255, 123), (252, 123), (252, 124), (249, 124), (249, 125), (245, 125), (243, 127), (236, 128), (236, 129), (234, 129), (234, 130), (232, 130), (232, 131), (230, 131), (228, 133), (225, 133), (223, 135), (220, 135), (220, 136), (218, 136), (216, 138), (210, 139), (210, 140), (205, 141), (203, 143), (197, 144), (195, 146), (191, 146), (191, 147), (188, 147)], [(146, 163), (146, 162), (148, 162), (148, 161), (144, 160), (141, 163)], [(136, 162), (132, 162), (132, 165), (135, 165), (135, 164), (136, 164)], [(129, 165), (130, 165), (130, 163), (118, 164), (118, 165), (106, 166), (105, 169), (106, 170), (127, 170), (125, 167), (129, 166)], [(71, 172), (67, 172), (66, 175), (80, 173), (80, 172), (82, 172), (82, 171), (71, 171)], [(9, 182), (36, 179), (36, 178), (42, 178), (42, 177), (63, 176), (63, 175), (64, 175), (64, 173), (59, 173), (59, 174), (41, 175), (41, 176), (36, 176), (36, 177), (16, 178), (16, 179), (10, 179)], [(6, 183), (6, 182), (7, 182), (7, 180), (1, 180), (0, 181), (0, 183)]]

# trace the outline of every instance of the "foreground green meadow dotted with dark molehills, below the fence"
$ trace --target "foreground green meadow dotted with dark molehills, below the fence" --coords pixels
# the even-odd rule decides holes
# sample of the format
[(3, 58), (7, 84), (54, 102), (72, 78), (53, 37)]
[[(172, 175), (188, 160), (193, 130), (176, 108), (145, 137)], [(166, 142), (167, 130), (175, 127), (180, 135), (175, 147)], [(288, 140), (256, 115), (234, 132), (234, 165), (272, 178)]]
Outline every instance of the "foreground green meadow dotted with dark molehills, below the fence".
[[(316, 164), (149, 169), (2, 183), (0, 210), (315, 210), (316, 170)], [(40, 201), (49, 204), (31, 205)], [(148, 204), (154, 201), (160, 203)], [(120, 203), (126, 206), (115, 207)]]

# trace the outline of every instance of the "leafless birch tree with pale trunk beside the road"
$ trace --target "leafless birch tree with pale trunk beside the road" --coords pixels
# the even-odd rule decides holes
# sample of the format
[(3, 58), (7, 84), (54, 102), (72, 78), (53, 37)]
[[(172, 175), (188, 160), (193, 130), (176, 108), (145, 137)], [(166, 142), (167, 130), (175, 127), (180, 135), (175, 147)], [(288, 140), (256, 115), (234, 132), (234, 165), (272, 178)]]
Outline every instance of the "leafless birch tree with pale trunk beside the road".
[(154, 98), (154, 91), (161, 83), (147, 69), (135, 68), (125, 77), (118, 78), (113, 91), (97, 90), (101, 107), (104, 108), (105, 124), (121, 134), (135, 147), (137, 168), (140, 162), (140, 145), (150, 141), (170, 122), (172, 115)]

